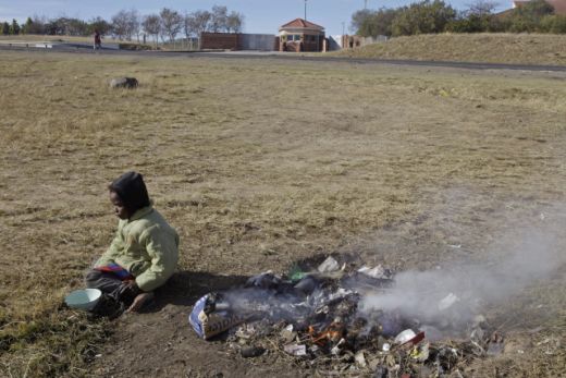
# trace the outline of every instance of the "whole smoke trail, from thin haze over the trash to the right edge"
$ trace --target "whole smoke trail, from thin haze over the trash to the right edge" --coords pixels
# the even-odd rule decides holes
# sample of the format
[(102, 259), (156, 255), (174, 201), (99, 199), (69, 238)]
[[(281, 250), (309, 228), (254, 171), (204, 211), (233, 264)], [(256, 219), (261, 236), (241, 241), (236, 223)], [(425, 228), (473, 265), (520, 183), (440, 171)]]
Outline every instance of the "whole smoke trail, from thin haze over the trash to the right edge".
[(244, 289), (222, 293), (218, 308), (297, 325), (342, 318), (353, 326), (361, 318), (365, 332), (381, 326), (386, 336), (409, 327), (426, 329), (429, 340), (463, 336), (476, 315), (487, 315), (491, 305), (553, 278), (553, 272), (564, 266), (565, 237), (561, 231), (565, 222), (559, 220), (554, 219), (552, 228), (539, 223), (538, 229), (528, 231), (509, 225), (513, 234), (497, 239), (481, 253), (442, 268), (397, 272), (393, 285), (387, 279), (383, 285), (376, 284), (355, 271), (342, 279), (340, 275), (332, 278), (330, 284), (328, 278), (315, 273), (293, 285), (266, 272), (250, 278)]

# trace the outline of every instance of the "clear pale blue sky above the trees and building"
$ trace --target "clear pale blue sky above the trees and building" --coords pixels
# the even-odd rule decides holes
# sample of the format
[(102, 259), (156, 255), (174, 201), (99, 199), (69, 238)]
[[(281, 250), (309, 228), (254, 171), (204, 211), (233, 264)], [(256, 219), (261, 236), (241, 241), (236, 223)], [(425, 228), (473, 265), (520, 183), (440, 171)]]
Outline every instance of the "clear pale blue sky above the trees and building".
[[(364, 9), (396, 8), (407, 5), (415, 0), (307, 0), (307, 20), (323, 26), (327, 35), (340, 35), (349, 31), (352, 14)], [(457, 10), (467, 9), (475, 0), (445, 0)], [(28, 16), (76, 17), (88, 21), (96, 16), (110, 20), (120, 10), (136, 9), (142, 15), (158, 13), (162, 8), (170, 8), (181, 13), (196, 10), (210, 10), (214, 4), (227, 7), (229, 12), (236, 11), (244, 15), (243, 33), (276, 34), (279, 26), (305, 16), (305, 0), (168, 0), (168, 1), (125, 1), (125, 0), (0, 0), (0, 21), (17, 20), (25, 22)], [(499, 2), (497, 10), (510, 8), (510, 0)]]

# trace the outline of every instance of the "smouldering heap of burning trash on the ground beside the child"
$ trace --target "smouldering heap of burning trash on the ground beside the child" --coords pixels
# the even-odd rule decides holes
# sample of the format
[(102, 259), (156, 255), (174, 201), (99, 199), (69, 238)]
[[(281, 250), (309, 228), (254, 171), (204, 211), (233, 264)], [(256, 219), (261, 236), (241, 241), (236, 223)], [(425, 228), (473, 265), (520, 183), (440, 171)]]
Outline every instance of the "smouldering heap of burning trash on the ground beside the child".
[[(398, 275), (328, 257), (315, 269), (250, 278), (244, 288), (200, 298), (189, 322), (204, 339), (227, 332), (244, 357), (267, 353), (329, 375), (442, 377), (497, 354), (502, 338), (453, 292), (399, 298)], [(403, 281), (403, 277), (401, 277)], [(430, 288), (422, 288), (431, 291)]]

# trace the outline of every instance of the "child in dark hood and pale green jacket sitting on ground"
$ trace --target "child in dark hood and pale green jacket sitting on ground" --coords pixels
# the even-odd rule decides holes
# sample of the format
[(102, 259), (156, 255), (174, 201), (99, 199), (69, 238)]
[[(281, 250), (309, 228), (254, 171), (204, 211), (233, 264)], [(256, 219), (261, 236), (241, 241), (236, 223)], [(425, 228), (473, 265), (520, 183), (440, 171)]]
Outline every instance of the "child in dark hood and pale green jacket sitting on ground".
[(108, 190), (120, 218), (118, 231), (85, 281), (87, 288), (99, 289), (130, 305), (128, 312), (137, 312), (173, 275), (179, 235), (152, 208), (142, 174), (124, 173)]

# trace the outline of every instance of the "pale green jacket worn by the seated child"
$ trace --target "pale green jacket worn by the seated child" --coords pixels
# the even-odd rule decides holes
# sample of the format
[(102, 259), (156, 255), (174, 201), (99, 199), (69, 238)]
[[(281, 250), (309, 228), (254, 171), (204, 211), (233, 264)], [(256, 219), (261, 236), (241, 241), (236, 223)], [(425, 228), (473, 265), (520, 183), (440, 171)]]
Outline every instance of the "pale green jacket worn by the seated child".
[(145, 292), (161, 286), (179, 260), (179, 234), (151, 206), (121, 219), (108, 251), (96, 266), (115, 263), (127, 269)]

